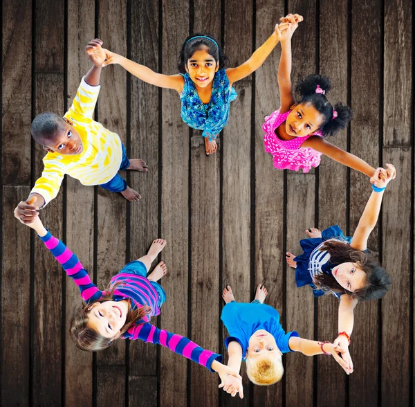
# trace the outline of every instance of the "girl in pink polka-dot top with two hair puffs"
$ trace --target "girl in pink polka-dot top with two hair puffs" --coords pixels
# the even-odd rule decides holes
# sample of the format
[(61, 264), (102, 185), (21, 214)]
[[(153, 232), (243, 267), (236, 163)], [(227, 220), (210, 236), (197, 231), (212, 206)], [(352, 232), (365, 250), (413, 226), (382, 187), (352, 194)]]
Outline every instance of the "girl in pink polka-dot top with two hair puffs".
[(273, 155), (274, 166), (279, 170), (308, 172), (320, 165), (322, 154), (350, 168), (373, 177), (375, 169), (357, 156), (326, 142), (347, 126), (352, 112), (338, 103), (334, 107), (326, 98), (331, 89), (329, 78), (309, 75), (297, 84), (300, 100), (295, 102), (291, 83), (291, 37), (297, 28), (293, 15), (286, 17), (292, 24), (280, 39), (282, 53), (278, 69), (278, 86), (281, 106), (265, 118), (265, 150)]

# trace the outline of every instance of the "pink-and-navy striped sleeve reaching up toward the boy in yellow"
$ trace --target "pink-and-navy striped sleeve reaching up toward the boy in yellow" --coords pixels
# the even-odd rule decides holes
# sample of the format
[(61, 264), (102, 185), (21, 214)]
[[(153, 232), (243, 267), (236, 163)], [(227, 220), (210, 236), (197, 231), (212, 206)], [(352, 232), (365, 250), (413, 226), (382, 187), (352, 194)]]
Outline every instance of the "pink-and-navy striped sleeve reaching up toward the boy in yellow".
[(56, 260), (62, 264), (66, 274), (73, 278), (75, 284), (80, 288), (81, 297), (84, 301), (96, 301), (102, 297), (102, 291), (93, 284), (80, 260), (59, 239), (54, 237), (49, 230), (45, 236), (39, 236), (39, 238), (43, 240)]

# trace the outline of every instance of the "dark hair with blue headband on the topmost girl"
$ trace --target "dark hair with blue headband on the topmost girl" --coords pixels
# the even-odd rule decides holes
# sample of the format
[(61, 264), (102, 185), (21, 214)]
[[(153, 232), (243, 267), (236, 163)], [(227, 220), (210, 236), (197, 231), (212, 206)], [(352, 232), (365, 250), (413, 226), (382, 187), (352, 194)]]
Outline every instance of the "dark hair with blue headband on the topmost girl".
[[(208, 38), (201, 37), (211, 38), (212, 41)], [(228, 66), (228, 57), (223, 53), (221, 44), (212, 34), (194, 33), (189, 35), (189, 37), (185, 39), (185, 42), (183, 42), (181, 51), (178, 54), (178, 71), (180, 73), (186, 73), (185, 66), (187, 60), (189, 60), (196, 51), (199, 51), (204, 47), (208, 48), (208, 53), (214, 57), (216, 63), (219, 62), (219, 69), (225, 69)]]

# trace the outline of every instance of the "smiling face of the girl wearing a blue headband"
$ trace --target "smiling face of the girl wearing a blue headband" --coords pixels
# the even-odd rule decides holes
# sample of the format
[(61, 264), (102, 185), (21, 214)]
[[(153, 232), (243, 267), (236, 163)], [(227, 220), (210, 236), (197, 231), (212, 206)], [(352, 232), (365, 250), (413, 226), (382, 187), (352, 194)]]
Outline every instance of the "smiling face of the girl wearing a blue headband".
[(190, 75), (190, 79), (196, 86), (205, 88), (212, 83), (214, 74), (219, 69), (219, 63), (212, 55), (208, 53), (208, 47), (195, 51), (194, 54), (187, 60), (186, 71)]

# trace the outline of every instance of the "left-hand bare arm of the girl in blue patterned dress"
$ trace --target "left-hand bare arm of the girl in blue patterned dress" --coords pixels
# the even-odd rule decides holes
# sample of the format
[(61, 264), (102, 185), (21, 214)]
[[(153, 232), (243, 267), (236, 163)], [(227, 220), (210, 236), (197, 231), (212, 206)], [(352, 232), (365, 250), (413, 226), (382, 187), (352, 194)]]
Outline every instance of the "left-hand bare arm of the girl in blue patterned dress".
[(121, 55), (104, 49), (106, 55), (106, 61), (102, 66), (109, 64), (120, 64), (122, 68), (129, 71), (131, 75), (136, 76), (138, 79), (147, 82), (149, 84), (156, 85), (156, 87), (175, 89), (178, 93), (183, 91), (185, 80), (182, 75), (163, 75), (147, 68), (147, 66), (137, 64)]

